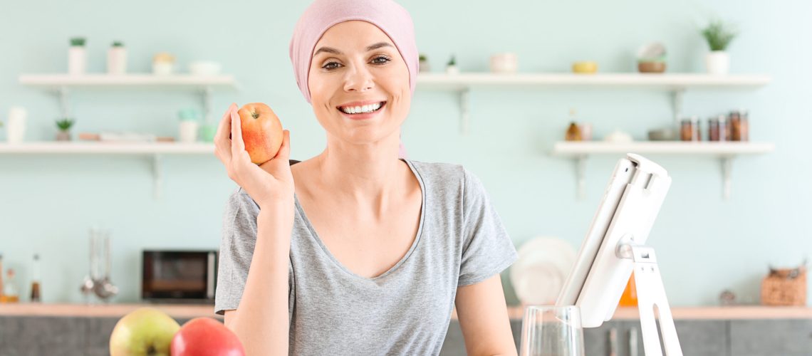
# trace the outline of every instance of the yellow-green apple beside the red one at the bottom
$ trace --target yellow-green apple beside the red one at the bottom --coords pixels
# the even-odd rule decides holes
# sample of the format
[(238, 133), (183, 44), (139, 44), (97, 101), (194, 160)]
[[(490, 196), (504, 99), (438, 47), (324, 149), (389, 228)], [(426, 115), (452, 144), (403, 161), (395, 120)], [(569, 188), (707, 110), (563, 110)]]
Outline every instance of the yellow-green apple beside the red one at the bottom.
[(177, 321), (155, 308), (143, 307), (124, 315), (110, 334), (110, 356), (169, 356)]

